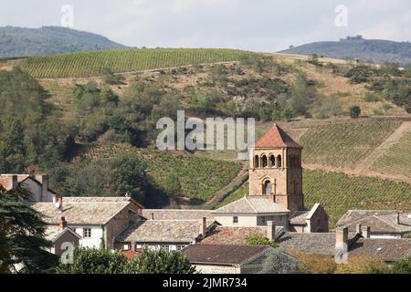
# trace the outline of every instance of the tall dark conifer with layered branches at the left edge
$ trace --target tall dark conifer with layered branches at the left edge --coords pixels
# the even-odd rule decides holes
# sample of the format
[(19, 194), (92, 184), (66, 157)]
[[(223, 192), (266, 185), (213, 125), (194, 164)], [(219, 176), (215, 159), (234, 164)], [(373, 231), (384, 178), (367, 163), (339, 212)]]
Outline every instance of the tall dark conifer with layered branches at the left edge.
[(47, 252), (47, 224), (41, 214), (22, 203), (30, 193), (21, 185), (6, 191), (0, 186), (0, 273), (22, 266), (18, 273), (47, 273), (58, 265), (58, 257)]

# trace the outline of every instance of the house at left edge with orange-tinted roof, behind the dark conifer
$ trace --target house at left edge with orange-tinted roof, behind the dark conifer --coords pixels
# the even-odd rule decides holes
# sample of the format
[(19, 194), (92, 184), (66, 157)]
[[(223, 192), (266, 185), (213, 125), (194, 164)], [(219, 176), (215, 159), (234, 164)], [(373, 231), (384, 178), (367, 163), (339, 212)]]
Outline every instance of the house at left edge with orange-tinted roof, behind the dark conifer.
[(26, 203), (52, 202), (53, 195), (57, 194), (48, 188), (47, 174), (0, 174), (0, 185), (7, 191), (16, 189), (19, 183), (31, 193)]

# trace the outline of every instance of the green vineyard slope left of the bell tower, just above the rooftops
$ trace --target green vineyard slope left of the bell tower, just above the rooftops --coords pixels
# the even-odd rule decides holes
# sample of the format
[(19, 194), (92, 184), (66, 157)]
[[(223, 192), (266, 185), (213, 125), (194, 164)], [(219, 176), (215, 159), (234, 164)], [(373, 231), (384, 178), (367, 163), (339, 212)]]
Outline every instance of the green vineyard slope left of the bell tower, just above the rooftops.
[(181, 184), (184, 197), (208, 201), (221, 188), (231, 183), (241, 171), (239, 162), (221, 162), (194, 155), (173, 154), (170, 151), (157, 151), (151, 148), (138, 149), (126, 145), (96, 147), (86, 158), (110, 160), (119, 154), (136, 156), (148, 166), (148, 175), (160, 190), (167, 187), (170, 175)]

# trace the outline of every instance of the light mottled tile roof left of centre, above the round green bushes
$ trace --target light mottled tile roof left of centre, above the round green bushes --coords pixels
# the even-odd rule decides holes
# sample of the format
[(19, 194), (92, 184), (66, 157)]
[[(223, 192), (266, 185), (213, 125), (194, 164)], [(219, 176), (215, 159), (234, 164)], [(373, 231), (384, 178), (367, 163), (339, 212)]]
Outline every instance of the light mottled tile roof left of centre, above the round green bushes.
[[(207, 221), (207, 227), (213, 224)], [(192, 243), (200, 235), (199, 220), (144, 220), (132, 224), (117, 237), (118, 242)]]

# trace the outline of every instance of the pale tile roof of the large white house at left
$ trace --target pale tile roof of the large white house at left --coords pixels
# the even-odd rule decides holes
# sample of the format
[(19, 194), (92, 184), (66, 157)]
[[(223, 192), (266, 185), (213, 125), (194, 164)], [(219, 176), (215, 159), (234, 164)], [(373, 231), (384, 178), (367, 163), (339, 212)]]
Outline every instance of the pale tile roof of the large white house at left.
[(64, 216), (69, 225), (100, 225), (107, 224), (112, 217), (119, 214), (130, 202), (82, 202), (68, 203), (63, 200), (63, 209), (60, 211), (54, 203), (35, 203), (32, 207), (44, 215), (47, 224), (58, 224)]

